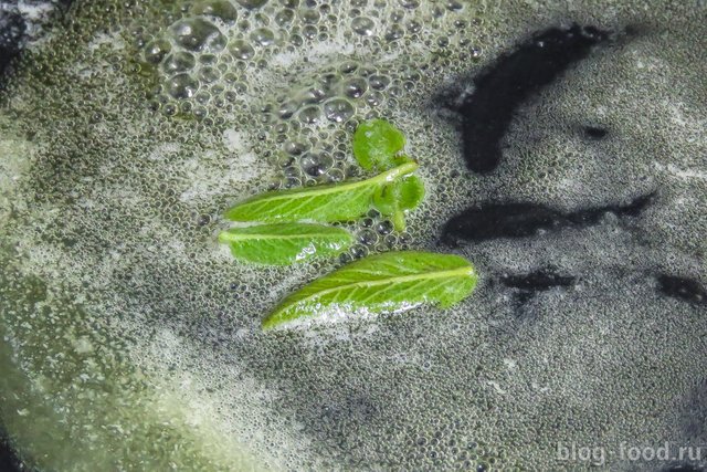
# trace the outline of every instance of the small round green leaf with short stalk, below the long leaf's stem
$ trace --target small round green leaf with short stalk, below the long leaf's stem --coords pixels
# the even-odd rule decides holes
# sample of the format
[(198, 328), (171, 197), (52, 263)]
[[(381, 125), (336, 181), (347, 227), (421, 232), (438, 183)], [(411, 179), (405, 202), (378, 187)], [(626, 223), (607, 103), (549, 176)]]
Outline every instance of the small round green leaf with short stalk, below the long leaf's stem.
[(373, 207), (389, 217), (395, 230), (405, 230), (405, 210), (412, 210), (424, 199), (424, 185), (416, 176), (388, 183), (373, 193)]

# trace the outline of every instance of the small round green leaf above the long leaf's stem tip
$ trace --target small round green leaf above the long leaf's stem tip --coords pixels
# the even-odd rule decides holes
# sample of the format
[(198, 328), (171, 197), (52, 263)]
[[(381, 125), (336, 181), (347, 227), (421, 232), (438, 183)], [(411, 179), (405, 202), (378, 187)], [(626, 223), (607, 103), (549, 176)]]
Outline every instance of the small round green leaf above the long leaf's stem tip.
[(404, 146), (405, 136), (384, 119), (361, 123), (354, 133), (354, 157), (366, 170), (387, 170), (399, 165), (397, 154)]

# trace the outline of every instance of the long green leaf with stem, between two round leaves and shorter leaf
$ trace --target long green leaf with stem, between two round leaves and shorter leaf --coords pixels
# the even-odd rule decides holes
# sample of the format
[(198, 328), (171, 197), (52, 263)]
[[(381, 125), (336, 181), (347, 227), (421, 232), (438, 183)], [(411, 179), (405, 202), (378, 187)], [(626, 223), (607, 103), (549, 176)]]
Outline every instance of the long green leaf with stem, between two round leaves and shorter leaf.
[(418, 164), (410, 161), (367, 180), (258, 195), (228, 210), (225, 218), (264, 223), (354, 220), (370, 209), (373, 193), (378, 189), (416, 168)]

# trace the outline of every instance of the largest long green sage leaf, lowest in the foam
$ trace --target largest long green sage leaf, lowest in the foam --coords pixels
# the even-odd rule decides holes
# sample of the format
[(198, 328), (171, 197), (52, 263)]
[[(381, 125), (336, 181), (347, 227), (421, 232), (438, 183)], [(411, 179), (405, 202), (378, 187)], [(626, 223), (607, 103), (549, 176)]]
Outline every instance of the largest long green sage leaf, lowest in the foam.
[(476, 280), (474, 266), (458, 255), (419, 251), (371, 255), (286, 297), (263, 321), (263, 329), (315, 317), (403, 312), (421, 304), (444, 308), (468, 296)]

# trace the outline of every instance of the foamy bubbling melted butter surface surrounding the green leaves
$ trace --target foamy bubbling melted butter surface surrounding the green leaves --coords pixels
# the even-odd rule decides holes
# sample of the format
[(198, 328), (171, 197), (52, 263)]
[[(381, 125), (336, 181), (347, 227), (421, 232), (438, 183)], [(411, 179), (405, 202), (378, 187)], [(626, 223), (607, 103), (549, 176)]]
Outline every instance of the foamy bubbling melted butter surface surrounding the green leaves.
[[(0, 416), (22, 458), (558, 470), (591, 465), (561, 444), (707, 443), (706, 8), (493, 3), (84, 1), (30, 42), (0, 113)], [(497, 167), (469, 171), (474, 77), (572, 22), (608, 39), (524, 96)], [(425, 182), (405, 233), (373, 214), (340, 260), (292, 268), (219, 247), (245, 197), (369, 176), (350, 146), (376, 117)], [(570, 222), (442, 241), (504, 204)], [(475, 294), (261, 332), (305, 283), (401, 249), (473, 261)]]

